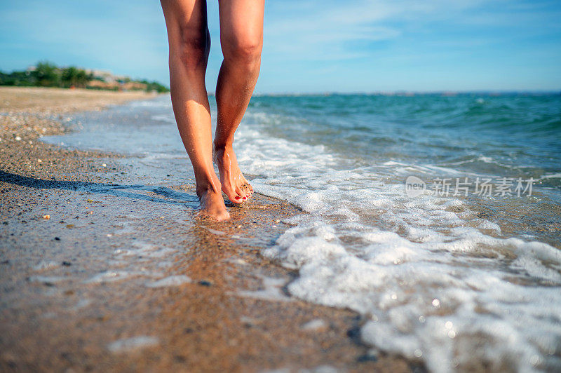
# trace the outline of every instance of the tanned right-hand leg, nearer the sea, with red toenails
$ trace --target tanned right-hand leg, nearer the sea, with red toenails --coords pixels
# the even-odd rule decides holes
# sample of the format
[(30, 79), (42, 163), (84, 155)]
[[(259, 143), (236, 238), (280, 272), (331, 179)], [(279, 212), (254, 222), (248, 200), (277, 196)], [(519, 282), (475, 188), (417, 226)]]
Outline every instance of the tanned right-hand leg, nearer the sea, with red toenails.
[(264, 0), (219, 1), (224, 61), (216, 86), (218, 116), (213, 156), (220, 172), (222, 191), (236, 203), (245, 201), (253, 193), (238, 167), (232, 144), (259, 76), (263, 14)]

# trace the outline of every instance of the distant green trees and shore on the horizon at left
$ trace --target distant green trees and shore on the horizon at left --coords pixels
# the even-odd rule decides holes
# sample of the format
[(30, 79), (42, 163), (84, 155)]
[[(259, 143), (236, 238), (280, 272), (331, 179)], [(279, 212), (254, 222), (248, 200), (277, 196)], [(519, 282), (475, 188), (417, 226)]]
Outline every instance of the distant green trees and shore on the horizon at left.
[(0, 86), (169, 92), (168, 87), (157, 81), (133, 80), (128, 76), (113, 76), (109, 72), (96, 72), (95, 70), (79, 69), (74, 66), (58, 67), (50, 62), (39, 62), (35, 67), (23, 71), (0, 72)]

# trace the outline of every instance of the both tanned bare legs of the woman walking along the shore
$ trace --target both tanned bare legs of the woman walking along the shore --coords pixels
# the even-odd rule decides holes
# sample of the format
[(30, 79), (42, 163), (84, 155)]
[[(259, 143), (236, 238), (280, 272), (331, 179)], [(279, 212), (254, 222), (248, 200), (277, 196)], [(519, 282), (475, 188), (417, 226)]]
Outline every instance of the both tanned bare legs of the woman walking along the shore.
[[(229, 219), (221, 191), (243, 203), (253, 189), (243, 177), (234, 153), (234, 133), (248, 108), (263, 46), (264, 0), (219, 1), (220, 44), (224, 60), (216, 87), (217, 126), (212, 142), (205, 73), (210, 33), (204, 0), (161, 0), (170, 47), (172, 106), (191, 159), (201, 212)], [(217, 177), (212, 166), (215, 161)]]

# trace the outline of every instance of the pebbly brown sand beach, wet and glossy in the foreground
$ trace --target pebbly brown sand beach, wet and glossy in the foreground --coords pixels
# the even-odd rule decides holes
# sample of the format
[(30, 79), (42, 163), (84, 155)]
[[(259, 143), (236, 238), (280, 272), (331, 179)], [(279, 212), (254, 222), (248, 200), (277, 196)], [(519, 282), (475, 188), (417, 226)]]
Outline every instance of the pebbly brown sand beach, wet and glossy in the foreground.
[(259, 250), (292, 205), (254, 194), (229, 222), (198, 219), (189, 168), (144, 184), (121, 155), (39, 140), (147, 97), (0, 88), (1, 371), (422, 369), (361, 344), (356, 313), (288, 296), (295, 273)]

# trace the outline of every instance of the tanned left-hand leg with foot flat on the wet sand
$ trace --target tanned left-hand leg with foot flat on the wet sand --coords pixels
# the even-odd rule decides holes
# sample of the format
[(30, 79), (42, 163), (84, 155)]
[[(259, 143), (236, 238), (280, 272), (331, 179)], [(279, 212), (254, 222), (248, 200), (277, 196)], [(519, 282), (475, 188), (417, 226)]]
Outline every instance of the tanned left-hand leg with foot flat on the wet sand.
[(170, 44), (170, 88), (177, 128), (195, 172), (201, 208), (229, 219), (212, 167), (210, 107), (205, 72), (210, 49), (205, 0), (161, 0)]

